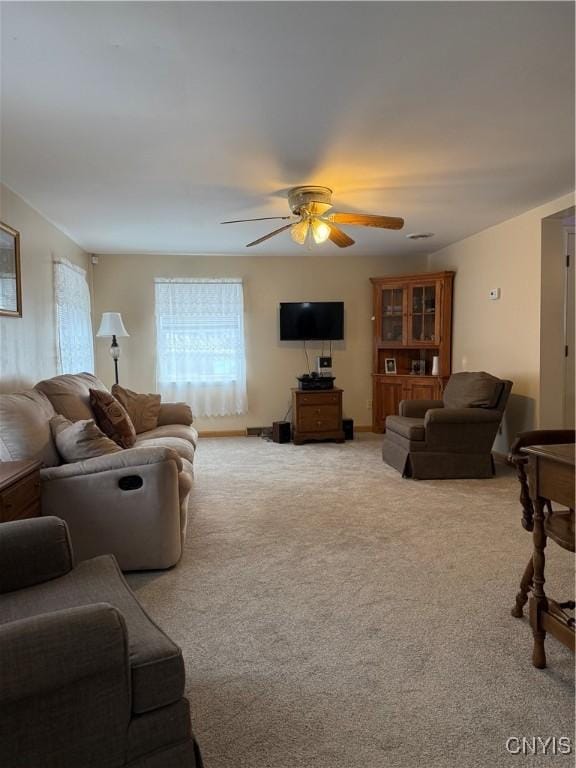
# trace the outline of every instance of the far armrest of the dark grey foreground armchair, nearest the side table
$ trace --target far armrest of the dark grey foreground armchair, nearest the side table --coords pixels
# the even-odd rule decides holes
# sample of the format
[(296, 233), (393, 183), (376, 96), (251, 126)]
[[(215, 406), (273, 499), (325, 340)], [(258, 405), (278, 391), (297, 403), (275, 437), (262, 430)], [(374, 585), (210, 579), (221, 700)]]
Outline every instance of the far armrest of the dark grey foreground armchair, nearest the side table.
[(57, 517), (3, 523), (0, 563), (0, 594), (68, 573), (73, 557), (66, 523)]

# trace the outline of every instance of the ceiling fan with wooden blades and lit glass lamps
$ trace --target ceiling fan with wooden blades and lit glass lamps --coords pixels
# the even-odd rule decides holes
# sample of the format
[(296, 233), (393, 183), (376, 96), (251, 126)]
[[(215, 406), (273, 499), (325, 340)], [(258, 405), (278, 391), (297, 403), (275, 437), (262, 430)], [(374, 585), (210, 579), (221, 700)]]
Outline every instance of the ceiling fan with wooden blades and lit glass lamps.
[(354, 240), (343, 232), (337, 224), (350, 224), (357, 227), (380, 227), (381, 229), (402, 229), (404, 219), (395, 216), (374, 216), (368, 213), (328, 213), (332, 208), (332, 190), (328, 187), (293, 187), (288, 192), (288, 205), (291, 216), (263, 216), (259, 219), (234, 219), (222, 224), (239, 224), (244, 221), (289, 221), (283, 227), (269, 232), (258, 240), (246, 245), (250, 248), (269, 240), (281, 232), (290, 230), (290, 236), (299, 245), (312, 246), (331, 240), (340, 248), (354, 245)]

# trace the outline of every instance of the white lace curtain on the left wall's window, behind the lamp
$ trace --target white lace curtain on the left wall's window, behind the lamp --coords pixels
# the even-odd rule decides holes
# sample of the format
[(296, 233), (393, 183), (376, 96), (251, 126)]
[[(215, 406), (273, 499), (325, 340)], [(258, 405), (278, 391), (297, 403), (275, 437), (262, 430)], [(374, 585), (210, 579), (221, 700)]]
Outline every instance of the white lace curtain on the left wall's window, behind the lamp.
[(59, 373), (94, 372), (90, 289), (86, 270), (66, 259), (54, 262)]

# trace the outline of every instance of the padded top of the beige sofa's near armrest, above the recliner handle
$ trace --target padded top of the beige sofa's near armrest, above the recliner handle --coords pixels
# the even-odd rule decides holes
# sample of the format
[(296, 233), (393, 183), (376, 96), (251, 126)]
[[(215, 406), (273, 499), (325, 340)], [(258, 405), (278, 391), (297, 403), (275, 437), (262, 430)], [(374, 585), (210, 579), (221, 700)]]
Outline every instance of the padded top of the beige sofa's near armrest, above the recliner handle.
[(172, 448), (142, 446), (127, 448), (116, 453), (107, 453), (94, 459), (75, 461), (72, 464), (61, 464), (59, 467), (47, 467), (40, 470), (40, 477), (43, 481), (63, 480), (66, 477), (93, 475), (112, 469), (129, 469), (147, 464), (161, 464), (164, 461), (174, 461), (178, 471), (182, 471), (182, 459)]

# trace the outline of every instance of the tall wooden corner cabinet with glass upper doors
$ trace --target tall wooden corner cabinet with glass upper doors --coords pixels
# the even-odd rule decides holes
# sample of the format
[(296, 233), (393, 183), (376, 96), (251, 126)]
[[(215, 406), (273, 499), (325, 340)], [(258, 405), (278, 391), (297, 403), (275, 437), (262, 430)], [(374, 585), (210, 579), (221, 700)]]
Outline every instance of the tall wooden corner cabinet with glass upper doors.
[(384, 432), (401, 400), (441, 399), (452, 365), (453, 280), (454, 272), (371, 278), (375, 432)]

